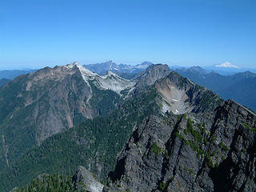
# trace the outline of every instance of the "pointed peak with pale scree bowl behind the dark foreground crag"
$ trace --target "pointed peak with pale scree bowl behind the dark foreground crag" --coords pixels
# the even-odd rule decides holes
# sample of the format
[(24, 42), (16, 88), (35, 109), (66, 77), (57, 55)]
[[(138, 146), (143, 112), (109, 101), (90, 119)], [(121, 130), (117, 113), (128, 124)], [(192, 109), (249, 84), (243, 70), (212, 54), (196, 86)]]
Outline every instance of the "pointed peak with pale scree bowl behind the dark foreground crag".
[(162, 112), (186, 114), (214, 109), (222, 99), (213, 91), (191, 82), (188, 78), (172, 71), (165, 78), (155, 83), (162, 96)]

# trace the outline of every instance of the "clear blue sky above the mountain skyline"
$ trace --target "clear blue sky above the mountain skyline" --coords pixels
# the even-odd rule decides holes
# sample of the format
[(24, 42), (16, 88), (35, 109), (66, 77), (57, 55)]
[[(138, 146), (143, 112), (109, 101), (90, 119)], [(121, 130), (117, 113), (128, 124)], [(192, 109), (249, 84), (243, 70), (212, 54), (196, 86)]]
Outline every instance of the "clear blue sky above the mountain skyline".
[(255, 0), (0, 0), (0, 69), (143, 61), (256, 67)]

